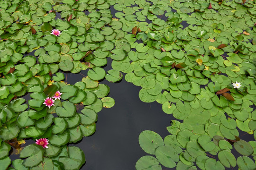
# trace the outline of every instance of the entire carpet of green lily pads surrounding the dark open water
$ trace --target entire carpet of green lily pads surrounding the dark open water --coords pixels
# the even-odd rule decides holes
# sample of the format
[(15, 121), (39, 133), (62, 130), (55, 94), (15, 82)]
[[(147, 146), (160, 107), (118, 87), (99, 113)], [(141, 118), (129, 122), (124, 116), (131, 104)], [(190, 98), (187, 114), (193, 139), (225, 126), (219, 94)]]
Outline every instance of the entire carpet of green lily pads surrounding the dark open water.
[[(255, 23), (253, 0), (1, 1), (0, 164), (79, 169), (84, 154), (67, 144), (94, 133), (97, 113), (114, 105), (99, 81), (118, 82), (123, 72), (142, 87), (143, 102), (156, 101), (175, 118), (164, 140), (140, 134), (142, 149), (155, 157), (141, 157), (137, 170), (196, 169), (194, 163), (202, 170), (255, 169), (249, 156), (256, 159), (256, 142), (238, 132), (256, 138)], [(63, 81), (63, 72), (86, 69), (82, 81)], [(57, 91), (61, 98), (50, 100)], [(9, 144), (25, 138), (39, 143), (20, 152), (27, 159), (11, 162)]]

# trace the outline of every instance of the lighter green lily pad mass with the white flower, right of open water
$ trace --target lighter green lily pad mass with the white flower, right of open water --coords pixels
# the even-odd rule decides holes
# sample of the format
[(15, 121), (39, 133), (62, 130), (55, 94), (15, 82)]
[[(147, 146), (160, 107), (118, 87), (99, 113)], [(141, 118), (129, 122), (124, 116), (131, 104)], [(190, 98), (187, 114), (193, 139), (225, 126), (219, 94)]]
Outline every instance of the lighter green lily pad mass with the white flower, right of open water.
[[(136, 50), (129, 51), (129, 59), (119, 61), (122, 67), (115, 69), (128, 73), (125, 79), (142, 87), (143, 102), (159, 102), (175, 118), (167, 127), (172, 135), (165, 140), (152, 131), (140, 134), (140, 146), (156, 158), (140, 158), (136, 169), (161, 170), (159, 163), (177, 170), (237, 165), (241, 170), (255, 169), (255, 161), (248, 156), (256, 156), (256, 142), (238, 137), (241, 130), (256, 138), (255, 2), (135, 3), (140, 8), (121, 1), (114, 5), (124, 12), (116, 16), (123, 22), (122, 30), (132, 33), (125, 38)], [(184, 28), (184, 21), (189, 26)], [(240, 157), (235, 158), (233, 147)], [(214, 155), (218, 158), (213, 159)]]

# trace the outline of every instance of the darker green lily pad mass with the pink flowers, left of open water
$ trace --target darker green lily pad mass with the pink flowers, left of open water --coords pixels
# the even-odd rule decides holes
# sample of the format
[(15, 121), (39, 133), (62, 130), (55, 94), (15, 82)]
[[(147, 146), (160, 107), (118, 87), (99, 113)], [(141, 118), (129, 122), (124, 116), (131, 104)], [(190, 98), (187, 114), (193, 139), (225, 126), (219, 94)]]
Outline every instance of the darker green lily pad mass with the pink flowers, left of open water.
[[(109, 86), (98, 82), (105, 77), (105, 71), (96, 66), (100, 62), (84, 60), (91, 57), (91, 50), (84, 49), (89, 46), (82, 43), (87, 31), (88, 36), (95, 38), (98, 34), (93, 32), (96, 28), (91, 28), (95, 23), (89, 24), (90, 17), (82, 11), (92, 12), (93, 8), (87, 9), (85, 3), (80, 5), (81, 10), (69, 11), (70, 2), (75, 3), (73, 0), (0, 2), (2, 169), (80, 169), (85, 162), (83, 151), (67, 144), (91, 136), (96, 129), (97, 113), (115, 103), (106, 97)], [(80, 3), (84, 2), (80, 0)], [(75, 5), (78, 6), (78, 2)], [(57, 12), (61, 18), (55, 19)], [(110, 11), (104, 14), (110, 15)], [(96, 21), (95, 16), (91, 18)], [(90, 30), (93, 33), (89, 34)], [(90, 42), (90, 48), (94, 50), (104, 40), (101, 36), (95, 46)], [(109, 52), (109, 43), (113, 44), (107, 41), (102, 44), (106, 52)], [(87, 68), (93, 70), (82, 81), (74, 85), (64, 82), (63, 72), (79, 73)], [(100, 74), (94, 72), (98, 70)], [(35, 144), (21, 149), (20, 144), (28, 138), (35, 140)], [(10, 160), (10, 145), (21, 159)]]

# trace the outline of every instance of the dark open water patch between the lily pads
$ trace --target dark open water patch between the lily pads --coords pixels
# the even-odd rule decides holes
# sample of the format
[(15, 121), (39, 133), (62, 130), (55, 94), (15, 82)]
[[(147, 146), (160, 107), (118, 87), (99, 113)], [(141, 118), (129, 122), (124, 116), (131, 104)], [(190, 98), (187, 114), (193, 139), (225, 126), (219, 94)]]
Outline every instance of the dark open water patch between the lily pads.
[[(106, 71), (109, 69), (110, 58), (105, 67)], [(81, 81), (86, 72), (68, 74), (67, 82), (75, 84)], [(141, 87), (126, 82), (124, 76), (119, 83), (110, 83), (106, 79), (100, 82), (110, 86), (108, 96), (116, 103), (98, 113), (96, 132), (92, 136), (70, 144), (80, 147), (85, 154), (86, 163), (81, 170), (135, 170), (137, 160), (147, 155), (138, 143), (139, 134), (152, 130), (163, 139), (170, 135), (166, 127), (171, 126), (173, 116), (164, 113), (162, 104), (142, 102), (138, 97)]]

